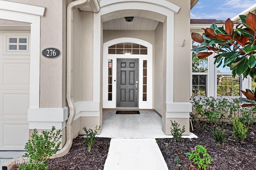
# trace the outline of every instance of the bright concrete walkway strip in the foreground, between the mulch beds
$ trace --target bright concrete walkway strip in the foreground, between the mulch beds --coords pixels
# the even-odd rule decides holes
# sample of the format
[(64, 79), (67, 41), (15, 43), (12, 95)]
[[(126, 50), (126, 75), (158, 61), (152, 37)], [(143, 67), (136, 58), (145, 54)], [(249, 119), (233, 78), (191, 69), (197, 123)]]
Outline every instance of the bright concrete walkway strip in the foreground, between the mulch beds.
[(104, 170), (168, 170), (155, 139), (111, 139)]

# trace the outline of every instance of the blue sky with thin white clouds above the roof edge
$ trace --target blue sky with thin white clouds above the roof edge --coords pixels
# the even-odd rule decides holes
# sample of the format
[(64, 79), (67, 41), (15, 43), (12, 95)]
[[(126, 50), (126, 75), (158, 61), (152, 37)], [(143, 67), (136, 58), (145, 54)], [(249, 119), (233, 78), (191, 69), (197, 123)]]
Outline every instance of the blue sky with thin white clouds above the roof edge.
[(198, 0), (190, 12), (190, 18), (227, 20), (253, 4), (256, 4), (256, 0)]

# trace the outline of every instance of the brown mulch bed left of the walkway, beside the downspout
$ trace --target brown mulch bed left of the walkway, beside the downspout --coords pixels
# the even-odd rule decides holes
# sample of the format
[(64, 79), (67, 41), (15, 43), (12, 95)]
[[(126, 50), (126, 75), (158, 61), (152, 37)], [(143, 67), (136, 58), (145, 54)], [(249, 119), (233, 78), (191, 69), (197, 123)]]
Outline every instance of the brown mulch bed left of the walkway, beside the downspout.
[[(108, 155), (110, 138), (97, 138), (93, 148), (88, 152), (84, 135), (73, 139), (72, 147), (63, 157), (51, 159), (49, 170), (103, 170)], [(16, 170), (14, 167), (12, 170)]]

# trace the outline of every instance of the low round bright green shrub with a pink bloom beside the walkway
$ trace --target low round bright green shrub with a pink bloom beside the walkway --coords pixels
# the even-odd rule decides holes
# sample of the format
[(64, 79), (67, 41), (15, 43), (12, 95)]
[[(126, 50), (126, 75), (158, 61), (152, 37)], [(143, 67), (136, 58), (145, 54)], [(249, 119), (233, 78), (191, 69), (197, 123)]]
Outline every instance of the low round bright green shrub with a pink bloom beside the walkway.
[(191, 151), (187, 153), (190, 160), (194, 162), (200, 169), (206, 170), (208, 164), (211, 164), (212, 157), (207, 153), (207, 149), (202, 145), (197, 145), (191, 148)]

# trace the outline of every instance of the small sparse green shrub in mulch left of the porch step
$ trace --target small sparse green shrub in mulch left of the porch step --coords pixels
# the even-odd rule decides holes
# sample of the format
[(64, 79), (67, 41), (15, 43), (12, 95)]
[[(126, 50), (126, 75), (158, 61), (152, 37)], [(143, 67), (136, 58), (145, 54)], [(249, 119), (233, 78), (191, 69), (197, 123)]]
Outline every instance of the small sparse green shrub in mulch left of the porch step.
[(92, 129), (88, 130), (88, 129), (86, 129), (86, 127), (84, 127), (83, 129), (86, 133), (86, 137), (84, 138), (84, 142), (87, 144), (87, 150), (90, 152), (90, 150), (93, 147), (94, 142), (97, 139), (97, 137), (95, 135), (100, 130), (100, 126), (98, 127), (98, 125), (97, 125), (95, 130), (92, 130)]

